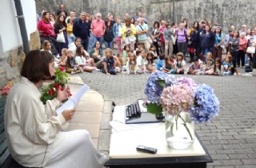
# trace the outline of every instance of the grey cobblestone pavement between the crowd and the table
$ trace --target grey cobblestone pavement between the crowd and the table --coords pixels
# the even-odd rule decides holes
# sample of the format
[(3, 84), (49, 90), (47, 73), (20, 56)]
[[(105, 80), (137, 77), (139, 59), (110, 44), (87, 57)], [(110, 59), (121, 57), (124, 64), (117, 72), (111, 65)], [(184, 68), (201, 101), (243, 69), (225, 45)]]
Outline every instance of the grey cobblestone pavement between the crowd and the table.
[[(101, 72), (80, 74), (83, 82), (116, 105), (146, 98), (146, 78), (141, 75), (106, 75)], [(176, 77), (180, 77), (176, 75)], [(210, 168), (256, 167), (256, 90), (255, 77), (187, 76), (214, 88), (221, 102), (218, 117), (196, 125), (196, 131), (214, 162)]]

